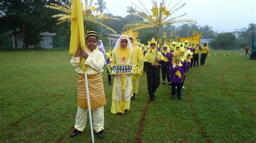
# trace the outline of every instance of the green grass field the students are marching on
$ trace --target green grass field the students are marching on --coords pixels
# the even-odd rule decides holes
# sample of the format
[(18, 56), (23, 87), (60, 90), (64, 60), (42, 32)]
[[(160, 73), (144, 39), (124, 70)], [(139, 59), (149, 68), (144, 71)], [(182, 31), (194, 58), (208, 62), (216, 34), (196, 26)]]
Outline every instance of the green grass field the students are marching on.
[[(144, 120), (143, 142), (255, 142), (256, 61), (244, 56), (209, 56), (188, 71), (183, 99), (170, 98), (160, 85)], [(70, 138), (77, 112), (77, 74), (68, 49), (0, 51), (0, 142), (90, 142), (89, 119)], [(135, 142), (147, 103), (146, 74), (126, 116), (112, 115), (112, 85), (103, 73), (105, 138), (96, 142)], [(95, 135), (97, 135), (95, 133)]]

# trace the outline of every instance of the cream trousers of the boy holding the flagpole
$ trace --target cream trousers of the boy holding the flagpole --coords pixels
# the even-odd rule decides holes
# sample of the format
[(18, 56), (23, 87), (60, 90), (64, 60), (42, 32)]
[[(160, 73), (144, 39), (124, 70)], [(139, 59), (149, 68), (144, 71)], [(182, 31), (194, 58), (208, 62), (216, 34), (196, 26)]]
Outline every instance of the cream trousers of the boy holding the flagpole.
[[(80, 132), (83, 132), (86, 126), (87, 112), (87, 108), (81, 108), (78, 106), (75, 128)], [(92, 111), (92, 123), (93, 129), (96, 133), (104, 130), (104, 106)]]

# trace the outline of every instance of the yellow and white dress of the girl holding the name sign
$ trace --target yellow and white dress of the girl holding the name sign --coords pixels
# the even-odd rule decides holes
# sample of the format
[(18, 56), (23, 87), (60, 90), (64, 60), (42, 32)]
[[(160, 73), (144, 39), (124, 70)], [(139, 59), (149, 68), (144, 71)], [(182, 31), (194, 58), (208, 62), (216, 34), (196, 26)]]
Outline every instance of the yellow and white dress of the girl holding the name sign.
[[(132, 51), (130, 48), (117, 48), (112, 52), (113, 64), (130, 64)], [(125, 91), (124, 98), (122, 94), (122, 76), (125, 76)], [(130, 102), (132, 92), (132, 77), (131, 75), (114, 76), (113, 90), (112, 90), (112, 105), (111, 113), (121, 113), (124, 102), (124, 110), (130, 110)]]

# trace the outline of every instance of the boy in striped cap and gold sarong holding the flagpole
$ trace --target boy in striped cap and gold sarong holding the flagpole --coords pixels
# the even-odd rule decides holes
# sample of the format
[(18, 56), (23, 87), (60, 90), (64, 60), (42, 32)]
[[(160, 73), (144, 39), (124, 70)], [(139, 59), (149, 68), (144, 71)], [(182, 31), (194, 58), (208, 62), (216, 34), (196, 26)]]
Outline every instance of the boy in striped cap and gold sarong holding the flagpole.
[(80, 56), (86, 60), (86, 73), (88, 80), (88, 88), (91, 102), (93, 128), (98, 133), (100, 139), (104, 138), (104, 105), (106, 98), (104, 93), (104, 85), (102, 80), (102, 72), (104, 66), (104, 55), (97, 51), (98, 34), (96, 31), (88, 31), (86, 33), (86, 49), (82, 51), (80, 45), (76, 54), (71, 59), (71, 64), (76, 67), (78, 73), (78, 110), (76, 115), (75, 130), (70, 134), (71, 137), (76, 137), (84, 131), (87, 119), (87, 97), (85, 86), (85, 75), (83, 67), (80, 66)]

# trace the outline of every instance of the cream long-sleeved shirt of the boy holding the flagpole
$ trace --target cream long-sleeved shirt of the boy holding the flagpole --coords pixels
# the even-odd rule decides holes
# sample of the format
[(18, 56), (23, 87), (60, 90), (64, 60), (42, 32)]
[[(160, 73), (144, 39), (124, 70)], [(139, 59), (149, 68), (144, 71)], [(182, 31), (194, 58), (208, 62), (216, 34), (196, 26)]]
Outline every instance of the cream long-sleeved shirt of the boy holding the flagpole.
[[(84, 62), (84, 65), (86, 65), (86, 73), (89, 75), (102, 73), (104, 71), (102, 68), (105, 62), (103, 53), (96, 49), (91, 51), (89, 48), (86, 48), (85, 52), (89, 54), (88, 58)], [(77, 58), (73, 56), (70, 63), (76, 67), (75, 71), (77, 71), (78, 74), (83, 74), (83, 68), (79, 66), (80, 56)]]

